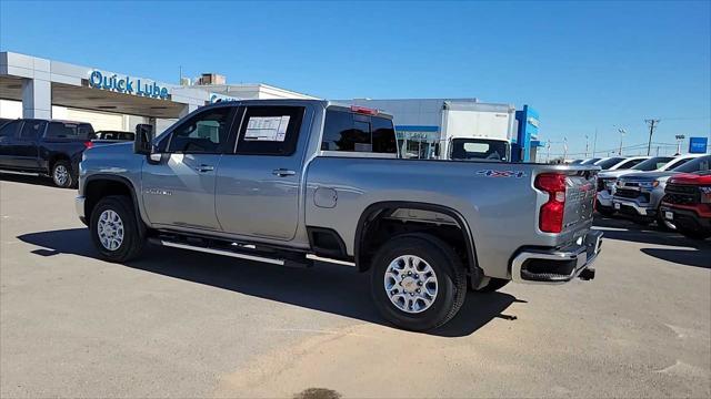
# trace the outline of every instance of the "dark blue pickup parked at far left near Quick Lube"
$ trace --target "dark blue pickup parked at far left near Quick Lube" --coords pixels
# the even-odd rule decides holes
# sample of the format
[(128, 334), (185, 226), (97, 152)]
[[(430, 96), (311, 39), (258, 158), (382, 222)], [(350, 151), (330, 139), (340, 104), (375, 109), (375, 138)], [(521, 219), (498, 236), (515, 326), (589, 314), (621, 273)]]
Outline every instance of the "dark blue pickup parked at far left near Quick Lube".
[(59, 187), (76, 186), (79, 162), (92, 146), (89, 123), (19, 119), (0, 127), (0, 168), (49, 175)]

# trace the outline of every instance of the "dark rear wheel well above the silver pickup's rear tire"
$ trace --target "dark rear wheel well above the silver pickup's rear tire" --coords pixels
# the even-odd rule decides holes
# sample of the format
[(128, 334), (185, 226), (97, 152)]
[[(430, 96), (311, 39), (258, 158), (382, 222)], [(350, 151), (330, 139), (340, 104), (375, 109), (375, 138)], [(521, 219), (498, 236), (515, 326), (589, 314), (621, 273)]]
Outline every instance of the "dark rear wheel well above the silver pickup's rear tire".
[(372, 256), (388, 239), (397, 235), (431, 234), (448, 243), (468, 265), (470, 277), (483, 273), (477, 266), (471, 234), (463, 218), (454, 211), (430, 204), (384, 203), (371, 205), (360, 217), (356, 232), (356, 265), (359, 272), (370, 268)]

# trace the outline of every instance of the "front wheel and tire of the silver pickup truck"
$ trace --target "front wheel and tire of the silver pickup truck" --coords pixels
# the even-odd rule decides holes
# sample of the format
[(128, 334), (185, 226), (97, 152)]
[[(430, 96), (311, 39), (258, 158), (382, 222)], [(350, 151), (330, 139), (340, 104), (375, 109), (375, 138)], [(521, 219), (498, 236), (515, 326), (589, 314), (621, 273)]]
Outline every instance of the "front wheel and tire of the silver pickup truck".
[(91, 239), (106, 260), (123, 263), (143, 250), (144, 228), (139, 225), (133, 204), (127, 196), (101, 198), (91, 212), (89, 226)]

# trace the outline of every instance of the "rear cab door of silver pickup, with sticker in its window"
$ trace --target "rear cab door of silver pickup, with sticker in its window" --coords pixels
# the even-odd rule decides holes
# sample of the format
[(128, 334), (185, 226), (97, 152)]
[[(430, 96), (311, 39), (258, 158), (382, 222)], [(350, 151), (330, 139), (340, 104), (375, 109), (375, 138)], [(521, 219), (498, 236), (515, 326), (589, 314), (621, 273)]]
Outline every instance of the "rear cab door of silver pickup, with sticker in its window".
[(308, 140), (304, 121), (311, 116), (304, 106), (243, 110), (237, 147), (222, 156), (218, 170), (216, 207), (224, 232), (281, 241), (294, 237)]

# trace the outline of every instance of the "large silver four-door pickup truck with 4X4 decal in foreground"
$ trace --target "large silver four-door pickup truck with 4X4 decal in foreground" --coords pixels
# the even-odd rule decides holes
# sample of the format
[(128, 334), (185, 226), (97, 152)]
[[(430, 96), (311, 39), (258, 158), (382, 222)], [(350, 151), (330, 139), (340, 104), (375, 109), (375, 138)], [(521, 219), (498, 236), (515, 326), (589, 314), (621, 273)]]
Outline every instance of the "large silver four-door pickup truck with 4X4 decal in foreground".
[(371, 273), (384, 318), (428, 330), (468, 290), (593, 278), (597, 172), (403, 160), (392, 117), (377, 110), (224, 102), (153, 140), (87, 151), (77, 212), (111, 262), (150, 242), (278, 265), (353, 264)]

